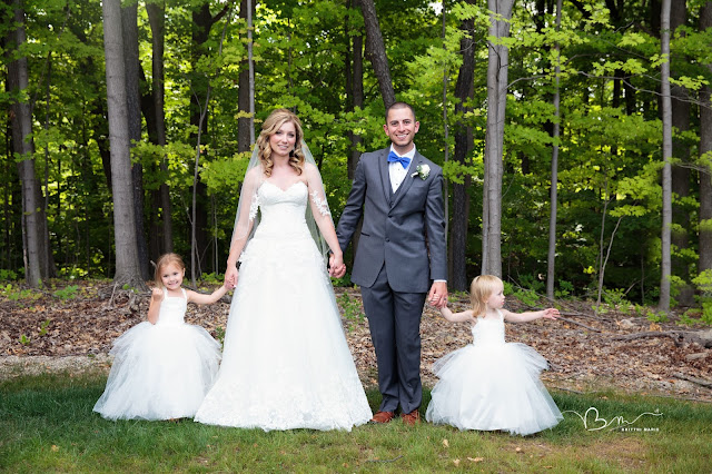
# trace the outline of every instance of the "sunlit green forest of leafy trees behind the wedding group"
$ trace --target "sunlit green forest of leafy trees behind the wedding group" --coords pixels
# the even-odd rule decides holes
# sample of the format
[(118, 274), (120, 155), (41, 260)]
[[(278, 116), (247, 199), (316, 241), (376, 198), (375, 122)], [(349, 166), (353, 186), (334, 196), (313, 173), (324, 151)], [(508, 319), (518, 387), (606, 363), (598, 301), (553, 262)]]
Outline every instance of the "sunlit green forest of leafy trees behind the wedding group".
[(165, 251), (194, 285), (222, 273), (274, 108), (300, 117), (337, 221), (404, 100), (445, 169), (452, 290), (486, 271), (712, 323), (710, 1), (4, 0), (2, 17), (0, 279), (142, 286)]

